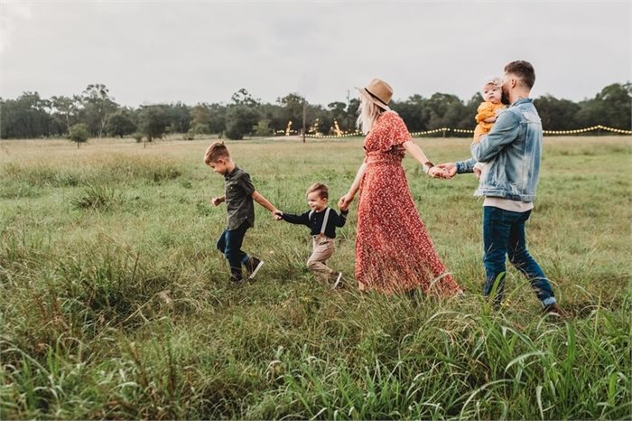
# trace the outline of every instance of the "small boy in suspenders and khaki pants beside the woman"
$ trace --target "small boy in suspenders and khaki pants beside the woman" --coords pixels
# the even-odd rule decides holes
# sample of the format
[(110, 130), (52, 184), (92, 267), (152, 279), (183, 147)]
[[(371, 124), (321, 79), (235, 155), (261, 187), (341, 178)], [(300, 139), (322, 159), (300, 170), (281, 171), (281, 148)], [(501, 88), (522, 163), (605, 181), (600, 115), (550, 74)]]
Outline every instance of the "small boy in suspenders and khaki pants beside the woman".
[(306, 225), (311, 228), (313, 251), (307, 260), (307, 267), (314, 275), (323, 282), (332, 281), (334, 288), (342, 286), (342, 272), (336, 272), (325, 265), (325, 261), (334, 252), (334, 239), (336, 238), (336, 227), (343, 227), (347, 221), (348, 211), (341, 211), (340, 214), (327, 207), (329, 191), (325, 184), (317, 182), (307, 189), (307, 204), (311, 211), (301, 215), (274, 211), (293, 224)]

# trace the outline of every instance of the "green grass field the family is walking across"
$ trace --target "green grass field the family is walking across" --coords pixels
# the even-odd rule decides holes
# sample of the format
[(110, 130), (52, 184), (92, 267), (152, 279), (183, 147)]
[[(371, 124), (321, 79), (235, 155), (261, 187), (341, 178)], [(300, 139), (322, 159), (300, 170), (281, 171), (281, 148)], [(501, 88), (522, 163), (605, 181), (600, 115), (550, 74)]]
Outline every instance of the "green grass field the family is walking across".
[[(417, 139), (434, 162), (468, 139)], [(209, 141), (0, 142), (0, 418), (629, 418), (630, 137), (549, 137), (530, 250), (570, 323), (525, 278), (480, 297), (471, 174), (404, 160), (418, 210), (467, 290), (441, 301), (338, 292), (305, 267), (309, 232), (257, 207), (256, 282), (228, 285), (215, 249), (223, 179)], [(306, 210), (312, 182), (347, 192), (361, 140), (228, 142), (259, 192)], [(352, 278), (356, 204), (330, 266)]]

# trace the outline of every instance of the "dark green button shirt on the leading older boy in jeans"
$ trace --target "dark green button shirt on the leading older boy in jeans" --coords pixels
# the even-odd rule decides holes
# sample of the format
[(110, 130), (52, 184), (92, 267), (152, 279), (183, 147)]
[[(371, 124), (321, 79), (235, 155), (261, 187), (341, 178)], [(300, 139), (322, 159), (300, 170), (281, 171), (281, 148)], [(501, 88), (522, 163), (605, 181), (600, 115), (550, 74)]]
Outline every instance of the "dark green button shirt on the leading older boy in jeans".
[(250, 175), (236, 166), (232, 172), (224, 175), (224, 182), (228, 229), (237, 229), (244, 221), (254, 227), (255, 205), (252, 196), (255, 186), (250, 181)]

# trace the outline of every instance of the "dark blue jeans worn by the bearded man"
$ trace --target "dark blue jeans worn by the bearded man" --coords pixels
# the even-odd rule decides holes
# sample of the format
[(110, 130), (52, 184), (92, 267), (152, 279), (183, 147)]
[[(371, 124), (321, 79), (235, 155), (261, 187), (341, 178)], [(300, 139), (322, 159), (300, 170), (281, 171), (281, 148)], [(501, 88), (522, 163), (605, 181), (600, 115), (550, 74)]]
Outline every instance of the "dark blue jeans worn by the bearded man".
[(525, 221), (531, 211), (512, 212), (493, 206), (483, 207), (483, 245), (485, 247), (486, 280), (483, 295), (489, 296), (498, 276), (494, 304), (499, 305), (505, 290), (505, 260), (522, 272), (534, 287), (535, 295), (544, 306), (555, 303), (555, 296), (544, 272), (526, 250)]

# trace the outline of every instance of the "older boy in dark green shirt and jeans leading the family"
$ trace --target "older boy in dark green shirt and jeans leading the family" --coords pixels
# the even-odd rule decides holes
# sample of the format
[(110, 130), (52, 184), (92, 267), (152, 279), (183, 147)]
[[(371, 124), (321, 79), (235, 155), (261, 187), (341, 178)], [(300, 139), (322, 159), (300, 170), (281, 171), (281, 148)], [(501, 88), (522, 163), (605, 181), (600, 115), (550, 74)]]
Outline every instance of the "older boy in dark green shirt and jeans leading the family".
[(218, 249), (228, 260), (230, 278), (233, 283), (243, 281), (241, 266), (246, 267), (248, 279), (264, 265), (257, 257), (250, 257), (241, 249), (246, 230), (255, 226), (255, 206), (253, 200), (268, 211), (276, 208), (265, 199), (250, 181), (250, 175), (233, 162), (224, 142), (215, 142), (209, 146), (204, 154), (204, 164), (209, 165), (215, 173), (224, 175), (225, 194), (211, 199), (213, 205), (218, 206), (226, 201), (228, 210), (228, 227), (218, 239)]

